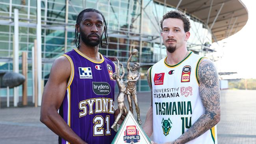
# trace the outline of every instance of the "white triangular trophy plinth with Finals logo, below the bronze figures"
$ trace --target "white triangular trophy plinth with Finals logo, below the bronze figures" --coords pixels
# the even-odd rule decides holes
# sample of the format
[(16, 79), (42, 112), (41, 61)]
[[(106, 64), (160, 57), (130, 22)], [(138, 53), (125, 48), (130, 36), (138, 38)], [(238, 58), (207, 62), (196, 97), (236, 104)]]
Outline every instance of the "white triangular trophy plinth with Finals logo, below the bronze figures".
[(129, 111), (111, 144), (151, 144), (150, 141)]

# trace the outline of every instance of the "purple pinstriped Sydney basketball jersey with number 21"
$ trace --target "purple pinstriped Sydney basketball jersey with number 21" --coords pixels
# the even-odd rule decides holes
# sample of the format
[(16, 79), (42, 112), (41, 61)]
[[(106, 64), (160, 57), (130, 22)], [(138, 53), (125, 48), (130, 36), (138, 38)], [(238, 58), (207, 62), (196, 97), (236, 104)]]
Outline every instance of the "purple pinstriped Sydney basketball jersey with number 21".
[[(78, 49), (64, 54), (71, 64), (71, 75), (59, 114), (88, 144), (110, 144), (114, 118), (114, 63), (101, 55), (90, 59)], [(69, 144), (59, 137), (59, 144)]]

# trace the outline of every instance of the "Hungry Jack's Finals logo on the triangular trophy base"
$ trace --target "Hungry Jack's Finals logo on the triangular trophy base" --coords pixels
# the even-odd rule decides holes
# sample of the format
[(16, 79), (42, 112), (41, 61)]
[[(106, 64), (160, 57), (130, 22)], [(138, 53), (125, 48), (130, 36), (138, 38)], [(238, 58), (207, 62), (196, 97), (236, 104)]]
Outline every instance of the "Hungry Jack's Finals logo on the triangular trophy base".
[(136, 129), (136, 126), (126, 126), (124, 131), (124, 142), (134, 144), (140, 140), (139, 131)]

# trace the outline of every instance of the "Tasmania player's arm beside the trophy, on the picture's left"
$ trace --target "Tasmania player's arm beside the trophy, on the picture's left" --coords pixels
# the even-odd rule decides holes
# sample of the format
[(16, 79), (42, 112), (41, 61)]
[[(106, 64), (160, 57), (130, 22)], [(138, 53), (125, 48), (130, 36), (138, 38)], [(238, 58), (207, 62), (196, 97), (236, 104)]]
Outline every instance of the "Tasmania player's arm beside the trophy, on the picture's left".
[(148, 137), (150, 137), (153, 133), (152, 85), (150, 82), (149, 71), (150, 71), (150, 68), (148, 69), (148, 72), (147, 72), (147, 79), (148, 79), (148, 86), (150, 87), (150, 91), (151, 91), (151, 104), (146, 115), (145, 124), (143, 126), (143, 130), (148, 135)]

